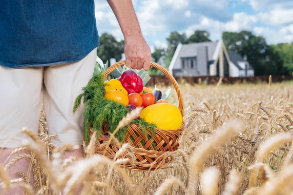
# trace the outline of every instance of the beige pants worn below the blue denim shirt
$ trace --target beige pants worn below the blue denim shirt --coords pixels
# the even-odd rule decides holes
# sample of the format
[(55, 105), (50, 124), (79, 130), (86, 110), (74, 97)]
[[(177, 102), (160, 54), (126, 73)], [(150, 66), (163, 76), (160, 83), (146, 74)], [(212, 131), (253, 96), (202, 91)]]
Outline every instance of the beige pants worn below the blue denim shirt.
[(84, 59), (48, 67), (11, 69), (0, 66), (0, 147), (21, 147), (27, 127), (38, 134), (43, 104), (52, 142), (83, 145), (83, 109), (73, 114), (75, 98), (92, 77), (96, 49)]

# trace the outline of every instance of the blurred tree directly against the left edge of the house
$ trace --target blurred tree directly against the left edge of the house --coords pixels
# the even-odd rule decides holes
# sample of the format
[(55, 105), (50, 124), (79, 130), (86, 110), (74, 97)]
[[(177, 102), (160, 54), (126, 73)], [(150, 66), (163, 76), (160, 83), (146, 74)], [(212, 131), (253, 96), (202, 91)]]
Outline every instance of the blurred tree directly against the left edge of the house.
[(184, 44), (186, 43), (186, 41), (187, 39), (185, 34), (179, 34), (178, 32), (171, 32), (170, 36), (167, 38), (168, 46), (167, 46), (166, 59), (165, 59), (166, 67), (170, 65), (178, 44), (179, 43)]

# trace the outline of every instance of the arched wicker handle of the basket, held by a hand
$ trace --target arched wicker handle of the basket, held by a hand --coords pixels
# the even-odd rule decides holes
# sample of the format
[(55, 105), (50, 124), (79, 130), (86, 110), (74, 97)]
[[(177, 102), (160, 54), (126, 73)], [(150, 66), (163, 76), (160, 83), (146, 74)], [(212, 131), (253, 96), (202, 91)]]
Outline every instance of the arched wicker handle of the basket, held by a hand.
[[(182, 94), (181, 94), (181, 91), (180, 91), (180, 88), (179, 88), (179, 85), (177, 83), (177, 81), (175, 80), (175, 78), (169, 73), (169, 71), (167, 71), (166, 68), (164, 68), (163, 66), (161, 66), (160, 64), (157, 64), (153, 61), (150, 62), (151, 66), (152, 67), (155, 67), (156, 69), (160, 70), (162, 73), (164, 73), (167, 78), (169, 78), (176, 90), (176, 93), (177, 93), (177, 96), (178, 96), (178, 101), (179, 101), (179, 110), (181, 112), (181, 115), (183, 117), (183, 98), (182, 98)], [(105, 72), (104, 72), (104, 77), (106, 78), (113, 70), (115, 70), (116, 68), (120, 67), (120, 66), (123, 66), (125, 65), (125, 60), (122, 60), (120, 62), (117, 62), (115, 64), (113, 64), (112, 66), (108, 67)]]

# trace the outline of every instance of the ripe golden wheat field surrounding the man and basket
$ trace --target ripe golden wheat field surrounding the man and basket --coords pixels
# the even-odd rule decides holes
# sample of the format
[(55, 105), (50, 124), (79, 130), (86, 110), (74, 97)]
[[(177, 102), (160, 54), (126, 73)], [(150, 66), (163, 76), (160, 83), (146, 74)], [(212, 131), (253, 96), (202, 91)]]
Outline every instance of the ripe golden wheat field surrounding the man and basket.
[[(169, 166), (127, 170), (119, 165), (131, 159), (94, 155), (92, 141), (84, 159), (61, 159), (76, 147), (50, 143), (42, 113), (39, 137), (23, 129), (31, 139), (15, 151), (32, 151), (21, 157), (32, 158), (34, 188), (27, 173), (9, 180), (0, 166), (1, 186), (21, 185), (28, 195), (59, 195), (58, 189), (74, 195), (80, 184), (82, 195), (293, 195), (292, 83), (180, 86), (185, 130)], [(176, 104), (175, 91), (169, 101)], [(124, 144), (119, 152), (127, 150)]]

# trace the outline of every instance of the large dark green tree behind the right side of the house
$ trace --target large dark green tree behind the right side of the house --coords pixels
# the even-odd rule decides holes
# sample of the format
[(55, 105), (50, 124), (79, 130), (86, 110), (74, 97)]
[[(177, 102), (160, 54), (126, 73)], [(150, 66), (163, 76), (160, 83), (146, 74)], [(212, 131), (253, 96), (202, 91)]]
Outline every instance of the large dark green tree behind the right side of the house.
[(250, 31), (224, 32), (223, 41), (229, 52), (247, 57), (255, 75), (277, 75), (282, 72), (282, 60), (263, 37), (255, 36)]

